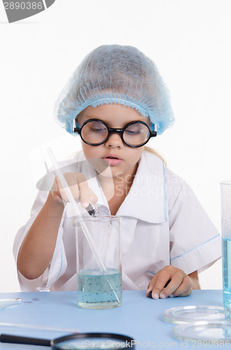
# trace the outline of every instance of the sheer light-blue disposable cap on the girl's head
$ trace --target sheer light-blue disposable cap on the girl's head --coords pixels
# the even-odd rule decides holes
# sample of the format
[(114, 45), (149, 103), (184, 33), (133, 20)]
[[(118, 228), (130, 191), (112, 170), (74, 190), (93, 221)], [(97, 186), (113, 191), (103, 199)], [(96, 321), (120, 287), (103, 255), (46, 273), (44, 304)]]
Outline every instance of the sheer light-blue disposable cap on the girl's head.
[(54, 106), (54, 118), (73, 134), (73, 120), (88, 106), (123, 104), (149, 117), (162, 134), (174, 123), (167, 87), (149, 57), (133, 46), (102, 45), (75, 69)]

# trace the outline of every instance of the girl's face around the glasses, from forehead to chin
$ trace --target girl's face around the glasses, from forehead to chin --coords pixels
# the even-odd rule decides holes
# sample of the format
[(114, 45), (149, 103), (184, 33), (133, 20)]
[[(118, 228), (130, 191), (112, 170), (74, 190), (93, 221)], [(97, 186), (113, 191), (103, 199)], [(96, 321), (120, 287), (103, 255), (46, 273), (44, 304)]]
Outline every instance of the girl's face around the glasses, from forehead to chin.
[[(141, 120), (150, 125), (149, 118), (143, 117), (138, 111), (121, 104), (103, 104), (96, 108), (89, 106), (78, 118), (78, 124), (82, 125), (86, 120), (97, 118), (103, 120), (108, 127), (122, 128), (129, 122)], [(120, 134), (111, 134), (104, 144), (90, 146), (82, 141), (82, 150), (89, 163), (97, 172), (105, 176), (124, 177), (133, 176), (137, 169), (144, 146), (132, 148), (126, 146)], [(117, 160), (110, 157), (116, 157)], [(109, 172), (105, 169), (110, 170)]]

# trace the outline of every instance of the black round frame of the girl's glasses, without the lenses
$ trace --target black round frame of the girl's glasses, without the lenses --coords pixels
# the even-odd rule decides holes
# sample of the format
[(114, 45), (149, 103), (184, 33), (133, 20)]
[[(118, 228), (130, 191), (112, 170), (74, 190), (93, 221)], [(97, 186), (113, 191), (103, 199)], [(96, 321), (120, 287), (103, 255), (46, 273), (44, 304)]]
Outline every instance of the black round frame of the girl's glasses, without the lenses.
[[(90, 122), (100, 122), (103, 125), (105, 125), (105, 127), (107, 128), (107, 138), (103, 142), (100, 142), (99, 144), (91, 144), (90, 142), (87, 142), (87, 141), (85, 141), (82, 138), (82, 128), (84, 127), (84, 125), (86, 125), (87, 123), (90, 123)], [(127, 127), (129, 127), (130, 125), (133, 125), (135, 123), (143, 124), (143, 125), (147, 126), (147, 128), (149, 129), (149, 138), (143, 144), (141, 144), (139, 146), (135, 146), (135, 145), (132, 146), (132, 145), (127, 144), (126, 141), (124, 141), (124, 131), (126, 130)], [(133, 121), (133, 122), (129, 122), (126, 125), (124, 125), (124, 127), (122, 127), (122, 128), (108, 127), (108, 125), (103, 120), (100, 120), (100, 119), (97, 119), (97, 118), (91, 118), (91, 119), (86, 120), (82, 124), (81, 127), (74, 127), (73, 132), (77, 132), (77, 134), (80, 135), (82, 141), (84, 141), (84, 143), (89, 145), (89, 146), (100, 146), (100, 145), (103, 145), (109, 139), (111, 134), (117, 133), (117, 134), (121, 134), (121, 139), (124, 142), (124, 144), (126, 144), (126, 146), (132, 147), (132, 148), (138, 148), (138, 147), (142, 147), (142, 146), (146, 145), (147, 142), (149, 141), (149, 139), (151, 139), (151, 137), (156, 137), (156, 135), (157, 135), (156, 125), (154, 125), (154, 127), (155, 127), (155, 129), (151, 130), (149, 125), (147, 125), (147, 123), (143, 122), (142, 120), (136, 120), (136, 121)]]

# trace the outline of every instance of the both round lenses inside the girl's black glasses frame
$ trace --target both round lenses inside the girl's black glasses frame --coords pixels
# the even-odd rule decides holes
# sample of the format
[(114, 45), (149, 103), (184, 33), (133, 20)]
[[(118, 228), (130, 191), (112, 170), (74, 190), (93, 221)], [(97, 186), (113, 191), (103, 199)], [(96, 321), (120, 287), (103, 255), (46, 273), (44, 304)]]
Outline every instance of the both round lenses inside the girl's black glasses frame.
[[(131, 146), (139, 146), (149, 139), (149, 128), (140, 122), (128, 125), (124, 130), (124, 142)], [(81, 130), (81, 136), (89, 144), (101, 144), (108, 136), (108, 129), (102, 122), (94, 120), (86, 123)]]

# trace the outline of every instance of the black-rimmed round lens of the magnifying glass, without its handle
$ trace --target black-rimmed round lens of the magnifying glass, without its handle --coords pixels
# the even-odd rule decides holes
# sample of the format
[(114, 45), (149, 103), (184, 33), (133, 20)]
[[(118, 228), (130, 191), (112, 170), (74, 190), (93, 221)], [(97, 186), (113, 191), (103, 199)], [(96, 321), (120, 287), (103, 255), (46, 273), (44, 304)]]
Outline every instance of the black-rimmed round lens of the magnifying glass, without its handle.
[(135, 340), (127, 335), (113, 333), (79, 333), (54, 339), (51, 346), (59, 350), (134, 349)]

